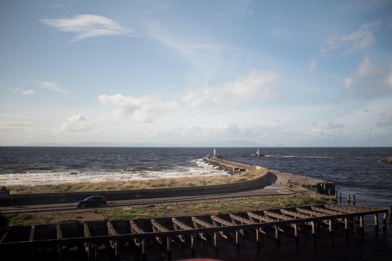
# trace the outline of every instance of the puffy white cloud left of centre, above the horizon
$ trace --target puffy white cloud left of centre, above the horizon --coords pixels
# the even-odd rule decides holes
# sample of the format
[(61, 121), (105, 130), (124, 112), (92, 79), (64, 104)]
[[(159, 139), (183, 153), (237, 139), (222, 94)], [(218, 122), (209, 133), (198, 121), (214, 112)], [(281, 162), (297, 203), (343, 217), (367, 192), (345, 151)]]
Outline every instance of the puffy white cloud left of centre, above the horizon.
[(156, 96), (132, 97), (116, 95), (100, 95), (101, 105), (114, 107), (113, 116), (117, 120), (132, 119), (135, 122), (152, 122), (162, 112), (174, 111), (178, 105), (174, 101), (162, 101)]

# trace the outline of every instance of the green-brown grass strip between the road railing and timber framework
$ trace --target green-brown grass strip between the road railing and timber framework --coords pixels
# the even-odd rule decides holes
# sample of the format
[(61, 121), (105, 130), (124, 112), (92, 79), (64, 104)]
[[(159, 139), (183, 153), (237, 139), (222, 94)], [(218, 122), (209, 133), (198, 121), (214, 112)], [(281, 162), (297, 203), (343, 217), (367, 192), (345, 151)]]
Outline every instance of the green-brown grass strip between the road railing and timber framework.
[(321, 194), (307, 194), (299, 197), (279, 197), (223, 201), (216, 203), (200, 203), (192, 205), (175, 205), (146, 208), (120, 208), (111, 210), (98, 210), (94, 212), (76, 212), (54, 214), (53, 216), (31, 214), (5, 214), (0, 225), (38, 225), (51, 223), (104, 221), (137, 218), (156, 218), (173, 216), (217, 215), (224, 213), (247, 212), (271, 208), (296, 207), (334, 202), (334, 197)]

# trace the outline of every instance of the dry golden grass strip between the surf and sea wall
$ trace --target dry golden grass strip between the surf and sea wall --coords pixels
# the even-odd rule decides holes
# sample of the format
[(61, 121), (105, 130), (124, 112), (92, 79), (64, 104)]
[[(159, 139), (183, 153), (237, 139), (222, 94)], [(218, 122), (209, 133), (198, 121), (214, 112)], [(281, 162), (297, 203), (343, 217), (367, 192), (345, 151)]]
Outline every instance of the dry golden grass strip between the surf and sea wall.
[(205, 178), (160, 178), (147, 180), (128, 181), (104, 181), (104, 182), (83, 182), (64, 183), (58, 185), (34, 185), (34, 186), (10, 186), (7, 187), (11, 194), (26, 193), (54, 193), (54, 192), (82, 192), (82, 191), (106, 191), (106, 190), (127, 190), (144, 188), (167, 188), (167, 187), (195, 187), (206, 185), (227, 184), (233, 182), (246, 181), (265, 174), (267, 169), (250, 170), (239, 172), (232, 176), (205, 177)]

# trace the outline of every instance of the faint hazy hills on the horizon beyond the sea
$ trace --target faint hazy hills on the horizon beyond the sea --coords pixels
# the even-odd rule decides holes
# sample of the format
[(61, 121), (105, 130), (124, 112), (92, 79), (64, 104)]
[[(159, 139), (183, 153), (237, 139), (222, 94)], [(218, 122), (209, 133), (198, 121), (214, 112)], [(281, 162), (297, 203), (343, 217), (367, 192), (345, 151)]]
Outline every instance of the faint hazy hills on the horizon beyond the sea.
[(79, 143), (28, 143), (21, 146), (29, 147), (285, 147), (279, 144), (274, 146), (261, 145), (258, 142), (246, 140), (224, 141), (194, 141), (185, 144), (136, 142), (136, 143), (112, 143), (112, 142), (79, 142)]

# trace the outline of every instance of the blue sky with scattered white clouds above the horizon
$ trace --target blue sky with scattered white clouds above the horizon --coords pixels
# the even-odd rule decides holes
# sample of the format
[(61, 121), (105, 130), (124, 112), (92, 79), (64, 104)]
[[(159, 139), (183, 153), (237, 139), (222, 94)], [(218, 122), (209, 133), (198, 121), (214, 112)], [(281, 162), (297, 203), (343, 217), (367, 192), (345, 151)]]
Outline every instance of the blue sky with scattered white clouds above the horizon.
[(391, 1), (0, 1), (0, 145), (392, 146)]

